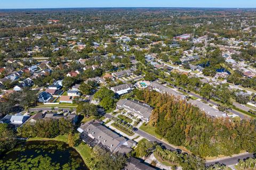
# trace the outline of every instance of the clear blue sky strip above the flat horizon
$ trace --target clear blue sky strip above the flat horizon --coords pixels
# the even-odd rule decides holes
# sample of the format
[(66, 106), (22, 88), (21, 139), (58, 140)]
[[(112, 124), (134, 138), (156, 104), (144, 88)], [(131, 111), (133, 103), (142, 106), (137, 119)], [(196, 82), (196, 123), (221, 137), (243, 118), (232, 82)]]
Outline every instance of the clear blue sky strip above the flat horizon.
[(0, 0), (0, 8), (256, 7), (256, 0)]

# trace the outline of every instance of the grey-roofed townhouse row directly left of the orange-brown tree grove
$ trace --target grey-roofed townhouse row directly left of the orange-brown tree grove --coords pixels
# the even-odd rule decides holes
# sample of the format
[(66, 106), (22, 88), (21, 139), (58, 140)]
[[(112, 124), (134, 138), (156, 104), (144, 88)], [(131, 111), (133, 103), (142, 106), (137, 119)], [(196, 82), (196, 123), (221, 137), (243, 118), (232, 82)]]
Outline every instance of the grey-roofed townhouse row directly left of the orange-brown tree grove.
[(153, 111), (153, 107), (142, 103), (138, 100), (121, 99), (117, 102), (116, 107), (118, 109), (125, 109), (128, 112), (132, 112), (137, 115), (141, 120), (148, 122), (149, 117)]

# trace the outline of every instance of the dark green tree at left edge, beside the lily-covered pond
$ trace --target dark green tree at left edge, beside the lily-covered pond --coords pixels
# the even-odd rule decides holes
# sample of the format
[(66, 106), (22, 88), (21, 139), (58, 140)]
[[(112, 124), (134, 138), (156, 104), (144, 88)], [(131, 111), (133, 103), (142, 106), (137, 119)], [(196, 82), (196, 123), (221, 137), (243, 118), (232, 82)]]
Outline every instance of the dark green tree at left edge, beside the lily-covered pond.
[(11, 150), (17, 143), (16, 135), (6, 123), (0, 123), (0, 154)]

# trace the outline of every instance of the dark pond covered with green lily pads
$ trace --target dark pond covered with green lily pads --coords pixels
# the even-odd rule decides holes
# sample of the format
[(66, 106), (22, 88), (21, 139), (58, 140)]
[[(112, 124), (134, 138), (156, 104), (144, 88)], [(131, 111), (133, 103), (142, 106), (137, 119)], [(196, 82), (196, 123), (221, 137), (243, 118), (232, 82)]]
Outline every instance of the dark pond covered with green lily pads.
[(29, 141), (1, 156), (0, 169), (88, 169), (74, 148), (64, 142)]

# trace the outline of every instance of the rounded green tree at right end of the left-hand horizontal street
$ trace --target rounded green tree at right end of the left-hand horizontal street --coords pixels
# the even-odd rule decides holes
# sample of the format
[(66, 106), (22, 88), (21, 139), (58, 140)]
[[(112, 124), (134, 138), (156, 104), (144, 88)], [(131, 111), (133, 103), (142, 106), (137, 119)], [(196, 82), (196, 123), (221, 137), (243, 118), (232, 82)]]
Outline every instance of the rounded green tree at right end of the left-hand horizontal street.
[(81, 113), (86, 117), (99, 115), (97, 106), (89, 103), (79, 103), (76, 109), (76, 113)]

